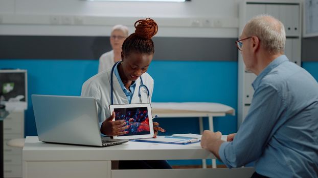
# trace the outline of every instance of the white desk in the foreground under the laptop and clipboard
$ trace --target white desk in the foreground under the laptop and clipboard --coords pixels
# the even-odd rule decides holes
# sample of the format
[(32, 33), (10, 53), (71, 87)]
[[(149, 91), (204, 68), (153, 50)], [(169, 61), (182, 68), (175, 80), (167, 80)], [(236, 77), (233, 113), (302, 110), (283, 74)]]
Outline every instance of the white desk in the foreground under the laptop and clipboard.
[(35, 177), (250, 177), (253, 168), (113, 170), (111, 160), (212, 159), (199, 143), (174, 145), (132, 142), (109, 147), (50, 144), (27, 137), (22, 174)]

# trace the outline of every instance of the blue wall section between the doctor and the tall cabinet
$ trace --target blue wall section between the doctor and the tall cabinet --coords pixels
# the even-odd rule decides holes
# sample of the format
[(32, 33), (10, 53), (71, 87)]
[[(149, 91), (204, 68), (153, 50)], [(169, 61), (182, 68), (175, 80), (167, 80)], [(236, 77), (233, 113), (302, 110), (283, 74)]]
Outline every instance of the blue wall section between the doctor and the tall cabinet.
[[(218, 102), (237, 108), (237, 62), (154, 61), (148, 73), (154, 79), (154, 102)], [(197, 118), (157, 120), (165, 126), (167, 135), (199, 133)], [(203, 121), (209, 129), (207, 118)], [(236, 128), (236, 116), (214, 118), (214, 130), (229, 134)]]

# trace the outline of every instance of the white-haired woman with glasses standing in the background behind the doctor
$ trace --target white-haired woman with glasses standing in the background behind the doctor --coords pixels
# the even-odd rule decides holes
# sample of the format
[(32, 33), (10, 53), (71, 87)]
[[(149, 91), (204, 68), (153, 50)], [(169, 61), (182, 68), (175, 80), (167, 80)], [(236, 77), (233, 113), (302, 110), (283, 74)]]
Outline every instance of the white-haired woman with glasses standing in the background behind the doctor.
[(111, 69), (111, 67), (121, 60), (122, 45), (128, 37), (128, 28), (124, 25), (115, 25), (110, 34), (110, 45), (112, 50), (102, 54), (99, 58), (98, 73)]

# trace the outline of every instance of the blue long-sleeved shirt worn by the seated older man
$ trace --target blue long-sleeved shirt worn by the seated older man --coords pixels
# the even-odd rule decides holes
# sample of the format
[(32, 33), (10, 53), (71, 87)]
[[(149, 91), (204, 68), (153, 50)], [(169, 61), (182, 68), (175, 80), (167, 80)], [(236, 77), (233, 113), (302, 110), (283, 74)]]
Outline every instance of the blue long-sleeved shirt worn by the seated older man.
[(281, 55), (253, 82), (251, 106), (232, 142), (219, 149), (228, 167), (255, 161), (269, 177), (318, 177), (318, 83)]

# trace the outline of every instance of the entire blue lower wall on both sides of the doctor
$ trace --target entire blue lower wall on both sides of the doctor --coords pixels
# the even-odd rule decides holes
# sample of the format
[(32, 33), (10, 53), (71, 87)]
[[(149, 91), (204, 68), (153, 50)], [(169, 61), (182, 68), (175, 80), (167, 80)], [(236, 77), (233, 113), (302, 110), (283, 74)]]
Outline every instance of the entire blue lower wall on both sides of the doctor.
[[(79, 96), (82, 83), (97, 72), (96, 60), (1, 60), (1, 68), (28, 70), (29, 102), (26, 135), (37, 135), (31, 103), (32, 94)], [(237, 108), (236, 62), (153, 61), (154, 102), (219, 102)], [(199, 133), (197, 118), (157, 118), (173, 133)], [(205, 118), (205, 129), (207, 119)], [(175, 127), (178, 126), (178, 127)], [(214, 118), (215, 130), (236, 131), (236, 116)]]

